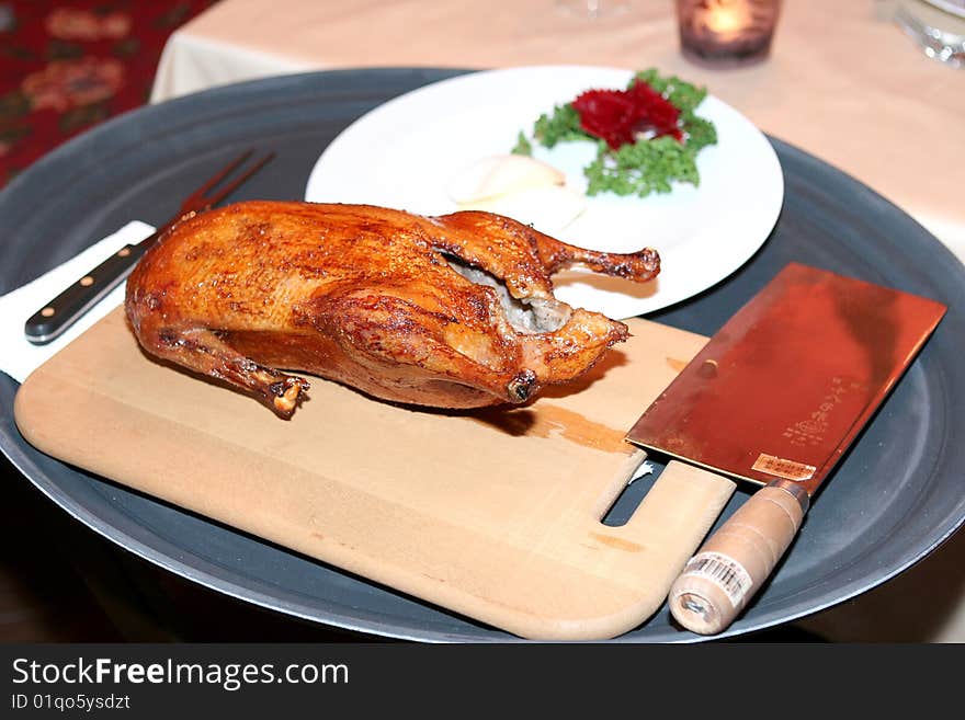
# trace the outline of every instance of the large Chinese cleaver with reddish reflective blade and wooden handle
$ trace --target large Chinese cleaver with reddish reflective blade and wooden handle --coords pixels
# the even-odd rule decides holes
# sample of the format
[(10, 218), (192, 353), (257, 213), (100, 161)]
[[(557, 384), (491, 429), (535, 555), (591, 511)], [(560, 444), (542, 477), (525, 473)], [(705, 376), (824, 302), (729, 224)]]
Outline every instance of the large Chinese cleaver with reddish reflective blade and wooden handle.
[(626, 439), (764, 485), (688, 561), (673, 617), (725, 630), (947, 308), (792, 263), (730, 318)]

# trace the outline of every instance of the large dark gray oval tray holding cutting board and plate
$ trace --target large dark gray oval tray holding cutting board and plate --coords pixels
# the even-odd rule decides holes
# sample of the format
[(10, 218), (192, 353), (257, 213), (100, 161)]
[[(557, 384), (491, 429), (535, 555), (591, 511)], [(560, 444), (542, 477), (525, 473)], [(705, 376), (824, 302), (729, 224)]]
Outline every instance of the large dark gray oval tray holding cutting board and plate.
[[(188, 188), (242, 148), (274, 149), (277, 158), (236, 199), (300, 199), (316, 159), (352, 121), (459, 72), (396, 68), (290, 76), (114, 118), (46, 156), (0, 193), (0, 293), (130, 219), (162, 221)], [(965, 430), (955, 422), (965, 408), (965, 268), (866, 186), (785, 142), (772, 144), (786, 195), (771, 237), (738, 272), (650, 319), (709, 335), (788, 261), (927, 295), (951, 309), (816, 499), (771, 583), (723, 638), (788, 622), (871, 590), (924, 558), (965, 518)], [(651, 242), (659, 245), (658, 239)], [(514, 640), (34, 450), (13, 423), (16, 389), (0, 374), (3, 453), (64, 511), (157, 565), (282, 614), (374, 637)], [(642, 494), (645, 485), (632, 485), (638, 487)], [(722, 519), (746, 493), (735, 495)], [(622, 503), (628, 508), (635, 500), (627, 494)], [(676, 626), (665, 607), (617, 641), (701, 639)]]

